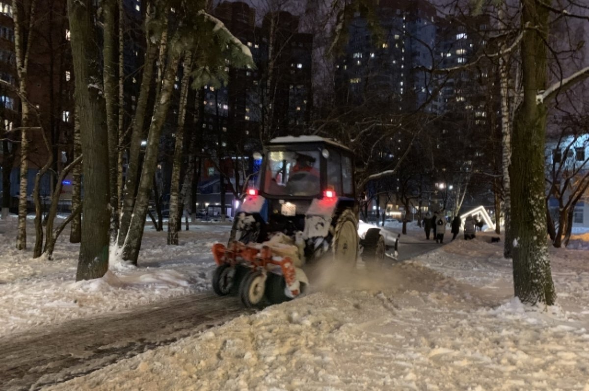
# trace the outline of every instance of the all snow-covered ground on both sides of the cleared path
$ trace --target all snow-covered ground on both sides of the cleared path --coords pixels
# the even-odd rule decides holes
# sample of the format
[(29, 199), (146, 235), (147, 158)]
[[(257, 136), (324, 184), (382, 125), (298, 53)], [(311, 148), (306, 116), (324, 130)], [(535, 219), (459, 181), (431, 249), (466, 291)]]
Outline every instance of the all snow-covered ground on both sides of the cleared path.
[[(41, 263), (2, 240), (0, 331), (203, 289), (210, 243), (228, 227), (197, 229), (177, 248), (148, 232), (149, 269), (84, 283), (72, 282), (77, 247), (62, 243), (57, 261)], [(538, 311), (512, 299), (511, 261), (490, 235), (378, 273), (327, 267), (306, 297), (53, 389), (589, 391), (587, 252), (551, 249), (559, 305)]]

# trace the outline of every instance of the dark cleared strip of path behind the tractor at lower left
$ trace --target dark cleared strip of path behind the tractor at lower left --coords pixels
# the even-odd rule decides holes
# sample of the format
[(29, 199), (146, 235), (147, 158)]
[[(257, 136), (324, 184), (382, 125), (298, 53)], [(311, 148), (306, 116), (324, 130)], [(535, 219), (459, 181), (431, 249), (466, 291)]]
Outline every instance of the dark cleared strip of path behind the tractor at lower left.
[(58, 327), (0, 337), (0, 389), (36, 390), (61, 383), (218, 326), (246, 313), (235, 297), (212, 293)]

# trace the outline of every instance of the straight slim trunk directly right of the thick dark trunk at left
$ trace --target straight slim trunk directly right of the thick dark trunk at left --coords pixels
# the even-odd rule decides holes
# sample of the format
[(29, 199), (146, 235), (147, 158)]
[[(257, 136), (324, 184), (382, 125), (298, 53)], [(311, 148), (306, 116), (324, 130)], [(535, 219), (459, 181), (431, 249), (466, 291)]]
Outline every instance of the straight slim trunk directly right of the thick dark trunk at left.
[(102, 15), (104, 18), (104, 100), (106, 104), (106, 122), (108, 134), (108, 174), (110, 177), (110, 241), (115, 243), (118, 233), (118, 82), (115, 42), (117, 12), (116, 0), (102, 0)]

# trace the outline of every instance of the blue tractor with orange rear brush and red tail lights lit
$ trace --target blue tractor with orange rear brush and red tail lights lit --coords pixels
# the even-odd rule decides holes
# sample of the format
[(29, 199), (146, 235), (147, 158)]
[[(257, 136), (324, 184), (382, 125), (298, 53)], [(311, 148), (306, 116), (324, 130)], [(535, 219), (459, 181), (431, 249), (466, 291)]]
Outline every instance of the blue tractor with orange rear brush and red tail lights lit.
[(353, 153), (343, 145), (316, 136), (274, 138), (258, 183), (237, 210), (229, 244), (213, 246), (219, 296), (237, 294), (246, 307), (277, 304), (305, 291), (305, 265), (315, 260), (352, 269), (360, 250), (367, 266), (385, 259), (379, 228), (358, 235)]

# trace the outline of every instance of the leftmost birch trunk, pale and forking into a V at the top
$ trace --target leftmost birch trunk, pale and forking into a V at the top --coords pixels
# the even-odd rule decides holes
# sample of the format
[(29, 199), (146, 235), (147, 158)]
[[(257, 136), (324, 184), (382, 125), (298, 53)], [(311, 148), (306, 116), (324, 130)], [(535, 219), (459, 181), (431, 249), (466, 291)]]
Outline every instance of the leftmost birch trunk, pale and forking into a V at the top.
[[(12, 0), (12, 21), (14, 22), (14, 51), (16, 57), (16, 74), (18, 75), (18, 91), (21, 97), (21, 169), (18, 196), (18, 228), (16, 233), (16, 249), (27, 248), (27, 191), (28, 191), (28, 149), (27, 128), (30, 126), (31, 108), (28, 102), (27, 74), (29, 52), (32, 42), (32, 24), (35, 18), (36, 0), (29, 4), (27, 31), (24, 30), (24, 15), (18, 0)], [(26, 36), (28, 35), (28, 37)]]

